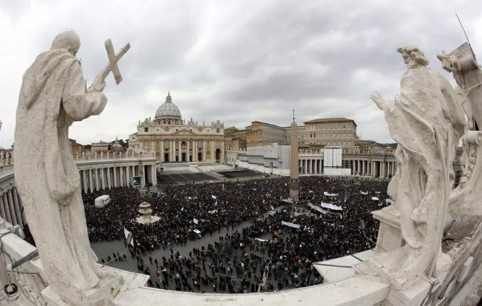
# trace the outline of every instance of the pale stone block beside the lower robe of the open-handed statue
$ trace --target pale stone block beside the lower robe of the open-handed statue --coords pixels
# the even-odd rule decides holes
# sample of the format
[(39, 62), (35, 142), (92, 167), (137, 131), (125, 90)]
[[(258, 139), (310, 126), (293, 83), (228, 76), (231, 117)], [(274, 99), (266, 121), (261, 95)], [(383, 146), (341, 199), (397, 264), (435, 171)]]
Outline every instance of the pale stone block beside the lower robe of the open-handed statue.
[(403, 244), (400, 214), (392, 204), (384, 209), (372, 212), (373, 218), (380, 221), (375, 253), (392, 251)]

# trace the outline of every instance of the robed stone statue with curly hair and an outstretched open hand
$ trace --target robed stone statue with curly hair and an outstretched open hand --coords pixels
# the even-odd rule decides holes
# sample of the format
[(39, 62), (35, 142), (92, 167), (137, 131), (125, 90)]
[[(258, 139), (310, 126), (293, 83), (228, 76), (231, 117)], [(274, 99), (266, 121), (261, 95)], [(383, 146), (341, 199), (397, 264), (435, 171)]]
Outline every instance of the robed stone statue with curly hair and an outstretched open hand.
[[(398, 49), (408, 70), (395, 101), (379, 94), (370, 98), (384, 112), (390, 134), (398, 143), (397, 173), (388, 193), (400, 210), (406, 244), (391, 282), (405, 289), (429, 276), (450, 259), (441, 250), (442, 231), (455, 175), (455, 148), (464, 134), (465, 115), (450, 82), (427, 69), (417, 47)], [(448, 262), (448, 263), (447, 263)], [(390, 269), (390, 268), (389, 268)]]

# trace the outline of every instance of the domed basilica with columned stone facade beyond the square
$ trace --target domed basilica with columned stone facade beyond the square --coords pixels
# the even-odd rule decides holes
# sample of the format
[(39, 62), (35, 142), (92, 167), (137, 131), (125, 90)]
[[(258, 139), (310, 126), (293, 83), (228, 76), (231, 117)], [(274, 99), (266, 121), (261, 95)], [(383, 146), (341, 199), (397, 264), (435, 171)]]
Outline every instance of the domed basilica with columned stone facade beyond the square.
[(137, 132), (129, 135), (129, 149), (153, 153), (160, 162), (224, 162), (224, 124), (182, 119), (170, 93), (154, 119), (139, 121)]

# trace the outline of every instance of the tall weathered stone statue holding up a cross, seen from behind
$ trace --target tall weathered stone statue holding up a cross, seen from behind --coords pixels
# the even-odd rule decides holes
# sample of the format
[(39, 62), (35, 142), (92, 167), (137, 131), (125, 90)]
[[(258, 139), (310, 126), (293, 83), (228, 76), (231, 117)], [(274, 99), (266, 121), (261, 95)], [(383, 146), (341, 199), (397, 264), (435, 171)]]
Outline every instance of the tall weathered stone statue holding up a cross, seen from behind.
[(123, 283), (122, 277), (100, 269), (90, 248), (79, 170), (69, 141), (74, 121), (103, 111), (106, 76), (112, 71), (116, 83), (122, 81), (117, 62), (129, 44), (118, 54), (110, 40), (105, 47), (109, 62), (86, 88), (76, 58), (79, 36), (70, 30), (58, 34), (50, 50), (23, 75), (16, 113), (15, 180), (41, 273), (50, 292), (74, 306), (105, 305)]

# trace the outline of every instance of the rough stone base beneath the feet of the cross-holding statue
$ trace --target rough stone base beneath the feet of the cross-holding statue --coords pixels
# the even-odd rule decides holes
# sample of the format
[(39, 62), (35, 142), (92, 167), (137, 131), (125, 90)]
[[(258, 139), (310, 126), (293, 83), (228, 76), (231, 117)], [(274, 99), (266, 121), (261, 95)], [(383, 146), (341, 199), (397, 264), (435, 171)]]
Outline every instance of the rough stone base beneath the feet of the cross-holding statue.
[(119, 292), (123, 284), (124, 279), (121, 275), (117, 275), (111, 279), (101, 280), (96, 288), (84, 293), (86, 301), (83, 302), (78, 302), (74, 299), (68, 301), (69, 298), (64, 298), (63, 300), (50, 286), (42, 290), (42, 296), (49, 306), (109, 306), (112, 305), (115, 295)]

